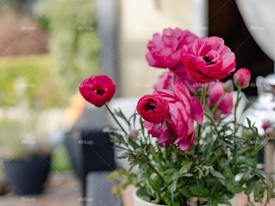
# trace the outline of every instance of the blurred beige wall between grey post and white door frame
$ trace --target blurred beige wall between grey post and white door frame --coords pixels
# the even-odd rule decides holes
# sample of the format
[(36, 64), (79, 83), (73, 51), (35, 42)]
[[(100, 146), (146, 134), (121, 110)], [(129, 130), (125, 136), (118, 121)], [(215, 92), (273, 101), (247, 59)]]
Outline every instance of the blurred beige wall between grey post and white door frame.
[[(166, 27), (191, 30), (192, 0), (120, 0), (119, 91), (120, 96), (151, 94), (164, 69), (148, 66), (147, 43)], [(159, 3), (158, 3), (159, 2)], [(150, 84), (137, 87), (136, 84)], [(146, 87), (148, 86), (148, 87)]]

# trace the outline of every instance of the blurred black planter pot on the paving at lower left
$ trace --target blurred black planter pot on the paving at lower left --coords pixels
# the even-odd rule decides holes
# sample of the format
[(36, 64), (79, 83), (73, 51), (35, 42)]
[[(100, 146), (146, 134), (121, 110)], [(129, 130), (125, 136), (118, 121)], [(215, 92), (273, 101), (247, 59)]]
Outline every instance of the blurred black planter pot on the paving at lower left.
[(50, 169), (50, 155), (28, 159), (4, 160), (9, 189), (16, 194), (37, 194), (42, 191)]

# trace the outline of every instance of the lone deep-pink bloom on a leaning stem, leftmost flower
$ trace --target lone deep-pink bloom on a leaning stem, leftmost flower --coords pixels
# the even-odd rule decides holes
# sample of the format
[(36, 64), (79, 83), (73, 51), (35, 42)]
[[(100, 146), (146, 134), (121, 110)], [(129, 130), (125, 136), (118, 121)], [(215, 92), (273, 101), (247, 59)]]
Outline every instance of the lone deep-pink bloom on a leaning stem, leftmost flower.
[(81, 95), (95, 106), (109, 102), (115, 94), (115, 84), (108, 76), (91, 76), (79, 85)]

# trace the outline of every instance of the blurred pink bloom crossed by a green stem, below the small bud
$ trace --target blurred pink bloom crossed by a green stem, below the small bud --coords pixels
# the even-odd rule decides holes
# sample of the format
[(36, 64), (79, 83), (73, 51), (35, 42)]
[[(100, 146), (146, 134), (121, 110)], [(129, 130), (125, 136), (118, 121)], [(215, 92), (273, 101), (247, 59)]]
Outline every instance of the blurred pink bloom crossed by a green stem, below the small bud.
[[(218, 82), (211, 82), (208, 84), (207, 87), (207, 94), (209, 97), (207, 97), (207, 103), (208, 106), (214, 106), (220, 99), (220, 97), (223, 95), (225, 92), (223, 90), (223, 82), (218, 81)], [(226, 93), (225, 96), (223, 97), (223, 100), (218, 106), (218, 110), (221, 111), (221, 114), (230, 114), (233, 109), (233, 98), (232, 98), (232, 93)], [(214, 114), (215, 116), (215, 114)]]

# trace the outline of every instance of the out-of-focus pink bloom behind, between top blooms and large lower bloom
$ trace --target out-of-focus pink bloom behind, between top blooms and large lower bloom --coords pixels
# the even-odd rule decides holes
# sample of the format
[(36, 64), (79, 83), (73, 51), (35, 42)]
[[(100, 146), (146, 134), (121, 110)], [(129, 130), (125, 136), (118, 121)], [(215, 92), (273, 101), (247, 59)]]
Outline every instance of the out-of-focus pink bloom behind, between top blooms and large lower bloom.
[[(183, 66), (182, 64), (176, 66), (176, 68)], [(160, 90), (160, 89), (167, 89), (167, 90), (172, 90), (172, 87), (170, 86), (170, 83), (174, 83), (175, 81), (178, 81), (182, 84), (184, 84), (190, 94), (194, 94), (199, 88), (198, 84), (196, 81), (194, 81), (184, 70), (181, 68), (181, 75), (177, 76), (172, 70), (168, 70), (163, 72), (159, 78), (158, 82), (155, 84), (154, 88), (155, 90)]]

